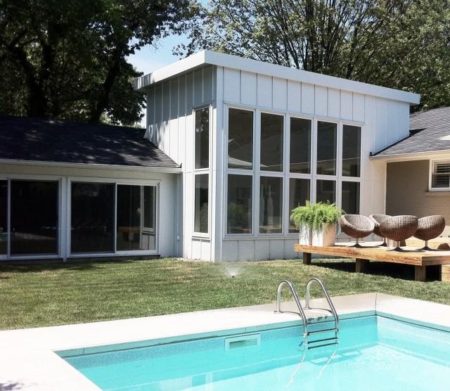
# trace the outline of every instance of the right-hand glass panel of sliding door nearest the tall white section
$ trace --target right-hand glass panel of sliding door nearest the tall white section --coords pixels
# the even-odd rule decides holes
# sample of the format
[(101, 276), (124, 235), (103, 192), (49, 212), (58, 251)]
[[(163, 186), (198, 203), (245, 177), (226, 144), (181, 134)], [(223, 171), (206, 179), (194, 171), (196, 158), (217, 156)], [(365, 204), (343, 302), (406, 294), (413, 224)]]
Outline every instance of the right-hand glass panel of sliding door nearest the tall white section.
[(155, 186), (117, 185), (116, 250), (155, 250)]

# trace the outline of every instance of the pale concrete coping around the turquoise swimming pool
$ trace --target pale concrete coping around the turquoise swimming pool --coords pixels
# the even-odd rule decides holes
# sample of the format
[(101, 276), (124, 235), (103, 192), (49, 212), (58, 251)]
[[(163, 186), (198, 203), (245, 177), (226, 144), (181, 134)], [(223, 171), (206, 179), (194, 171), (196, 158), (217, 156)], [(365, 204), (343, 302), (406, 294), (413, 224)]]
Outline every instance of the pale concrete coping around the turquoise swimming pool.
[[(340, 317), (378, 315), (450, 331), (450, 306), (423, 300), (364, 293), (333, 297)], [(326, 308), (323, 299), (311, 300), (312, 307)], [(274, 313), (275, 304), (212, 309), (136, 319), (80, 323), (65, 326), (0, 331), (0, 390), (99, 390), (55, 352), (64, 355), (89, 354), (105, 345), (127, 347), (201, 338), (206, 335), (250, 333), (264, 328), (294, 326), (298, 314)], [(293, 302), (283, 310), (295, 311)], [(308, 317), (324, 312), (307, 311)], [(131, 343), (130, 343), (131, 342)]]

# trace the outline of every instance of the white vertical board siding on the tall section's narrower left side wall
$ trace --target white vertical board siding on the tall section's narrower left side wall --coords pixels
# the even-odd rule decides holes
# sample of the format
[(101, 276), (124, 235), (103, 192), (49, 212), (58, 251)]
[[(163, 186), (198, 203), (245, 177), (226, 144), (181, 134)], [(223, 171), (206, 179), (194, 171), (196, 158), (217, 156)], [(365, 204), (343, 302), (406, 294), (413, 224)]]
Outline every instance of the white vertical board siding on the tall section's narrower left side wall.
[[(150, 87), (148, 105), (153, 107), (153, 115), (148, 118), (150, 141), (153, 141), (172, 160), (181, 165), (182, 174), (174, 182), (173, 192), (165, 195), (165, 202), (172, 202), (171, 220), (174, 254), (198, 259), (211, 260), (210, 241), (193, 241), (193, 151), (194, 116), (193, 109), (212, 103), (215, 98), (214, 67), (207, 66), (186, 75), (174, 77)], [(154, 91), (154, 92), (153, 92)], [(210, 124), (210, 137), (214, 137)], [(210, 189), (211, 191), (211, 189)], [(178, 193), (177, 193), (178, 192)], [(161, 197), (163, 195), (161, 194)], [(167, 200), (167, 201), (166, 201)], [(177, 206), (177, 207), (176, 207)], [(167, 214), (161, 214), (166, 219)], [(176, 240), (179, 236), (179, 243)]]

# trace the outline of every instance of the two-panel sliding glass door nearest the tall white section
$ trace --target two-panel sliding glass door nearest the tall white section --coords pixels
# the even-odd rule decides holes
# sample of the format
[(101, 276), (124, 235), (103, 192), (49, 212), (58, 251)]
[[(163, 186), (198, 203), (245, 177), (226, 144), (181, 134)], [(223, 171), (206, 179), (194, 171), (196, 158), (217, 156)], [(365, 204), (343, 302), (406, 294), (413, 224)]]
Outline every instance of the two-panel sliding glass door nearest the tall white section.
[(156, 186), (72, 182), (71, 252), (156, 250)]

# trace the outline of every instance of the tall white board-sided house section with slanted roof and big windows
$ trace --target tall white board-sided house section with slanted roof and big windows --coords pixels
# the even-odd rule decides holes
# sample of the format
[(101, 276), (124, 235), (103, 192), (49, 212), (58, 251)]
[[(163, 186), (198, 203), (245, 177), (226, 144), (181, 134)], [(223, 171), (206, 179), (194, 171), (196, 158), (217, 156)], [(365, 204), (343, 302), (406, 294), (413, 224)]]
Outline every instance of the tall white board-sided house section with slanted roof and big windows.
[(370, 155), (409, 135), (420, 99), (212, 51), (136, 88), (146, 137), (181, 166), (173, 255), (207, 261), (296, 257), (289, 215), (306, 199), (385, 212), (386, 163)]

